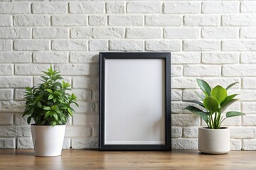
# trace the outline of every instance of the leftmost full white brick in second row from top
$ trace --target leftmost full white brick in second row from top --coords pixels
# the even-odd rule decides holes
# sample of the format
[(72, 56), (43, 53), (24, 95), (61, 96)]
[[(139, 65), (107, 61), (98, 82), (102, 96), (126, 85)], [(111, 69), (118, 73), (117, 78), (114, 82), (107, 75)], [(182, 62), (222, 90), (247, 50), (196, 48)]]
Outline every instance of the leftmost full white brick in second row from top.
[(49, 16), (14, 16), (14, 26), (49, 26)]

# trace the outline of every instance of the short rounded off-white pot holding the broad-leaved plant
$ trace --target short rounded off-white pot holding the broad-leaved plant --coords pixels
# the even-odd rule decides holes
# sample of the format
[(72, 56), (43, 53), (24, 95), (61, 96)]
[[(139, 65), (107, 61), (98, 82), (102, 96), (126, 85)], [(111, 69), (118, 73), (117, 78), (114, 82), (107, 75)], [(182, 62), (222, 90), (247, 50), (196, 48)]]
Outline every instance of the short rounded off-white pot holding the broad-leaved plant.
[(230, 129), (198, 128), (198, 150), (206, 154), (226, 154), (230, 151)]

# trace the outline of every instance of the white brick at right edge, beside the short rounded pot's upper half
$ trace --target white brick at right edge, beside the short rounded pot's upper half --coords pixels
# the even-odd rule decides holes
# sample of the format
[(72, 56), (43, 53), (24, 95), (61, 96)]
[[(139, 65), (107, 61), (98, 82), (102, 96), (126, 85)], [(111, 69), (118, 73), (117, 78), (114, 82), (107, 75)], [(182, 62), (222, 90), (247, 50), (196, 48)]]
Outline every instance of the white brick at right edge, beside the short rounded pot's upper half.
[(235, 127), (230, 128), (230, 138), (234, 139), (251, 139), (255, 138), (256, 128)]

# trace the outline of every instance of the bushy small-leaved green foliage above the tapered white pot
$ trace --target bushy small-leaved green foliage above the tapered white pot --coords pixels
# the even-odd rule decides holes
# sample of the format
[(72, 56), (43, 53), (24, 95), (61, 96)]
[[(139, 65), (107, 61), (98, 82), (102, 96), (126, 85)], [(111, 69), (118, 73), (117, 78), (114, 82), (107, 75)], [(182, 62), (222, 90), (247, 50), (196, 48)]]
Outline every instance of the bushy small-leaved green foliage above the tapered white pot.
[(26, 109), (21, 114), (28, 115), (28, 124), (33, 119), (36, 125), (65, 125), (74, 113), (71, 104), (78, 106), (77, 97), (66, 93), (66, 90), (71, 90), (70, 84), (65, 81), (60, 83), (58, 80), (63, 77), (51, 65), (48, 72), (43, 73), (46, 75), (41, 77), (42, 84), (26, 87)]

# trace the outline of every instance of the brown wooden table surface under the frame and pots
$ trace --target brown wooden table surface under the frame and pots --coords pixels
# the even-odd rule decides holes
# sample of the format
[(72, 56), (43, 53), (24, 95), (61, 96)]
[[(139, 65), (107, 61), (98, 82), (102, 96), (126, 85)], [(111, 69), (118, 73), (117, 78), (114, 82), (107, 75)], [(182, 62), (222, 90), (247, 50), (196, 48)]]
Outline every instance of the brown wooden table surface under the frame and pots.
[(32, 149), (0, 149), (0, 169), (256, 169), (255, 151), (201, 154), (172, 152), (99, 152), (64, 149), (60, 157), (35, 157)]

